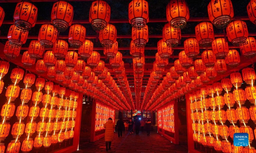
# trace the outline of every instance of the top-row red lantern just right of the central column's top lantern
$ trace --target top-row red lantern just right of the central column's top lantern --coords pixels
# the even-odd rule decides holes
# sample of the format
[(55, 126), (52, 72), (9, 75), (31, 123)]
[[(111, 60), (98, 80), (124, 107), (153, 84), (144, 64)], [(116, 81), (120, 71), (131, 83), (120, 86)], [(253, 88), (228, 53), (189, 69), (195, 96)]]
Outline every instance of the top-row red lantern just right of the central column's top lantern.
[(171, 0), (166, 6), (166, 18), (173, 28), (183, 29), (189, 19), (188, 4), (181, 0)]

